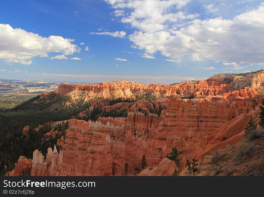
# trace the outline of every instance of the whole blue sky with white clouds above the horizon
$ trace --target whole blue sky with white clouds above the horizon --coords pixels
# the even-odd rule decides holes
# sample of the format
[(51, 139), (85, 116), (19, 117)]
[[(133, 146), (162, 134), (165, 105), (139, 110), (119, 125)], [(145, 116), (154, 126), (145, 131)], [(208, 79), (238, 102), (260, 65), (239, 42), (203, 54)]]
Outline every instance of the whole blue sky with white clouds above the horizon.
[(171, 84), (264, 68), (262, 1), (0, 5), (0, 79)]

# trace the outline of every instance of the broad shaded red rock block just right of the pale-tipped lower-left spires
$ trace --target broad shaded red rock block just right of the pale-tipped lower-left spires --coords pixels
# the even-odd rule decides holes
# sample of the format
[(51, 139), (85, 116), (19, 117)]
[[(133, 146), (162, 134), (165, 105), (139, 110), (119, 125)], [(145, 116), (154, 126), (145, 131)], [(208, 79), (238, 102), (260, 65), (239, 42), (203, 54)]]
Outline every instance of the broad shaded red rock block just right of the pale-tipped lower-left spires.
[(60, 175), (112, 175), (110, 135), (70, 127), (63, 146)]

